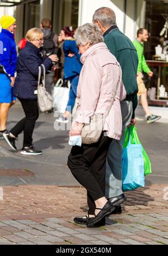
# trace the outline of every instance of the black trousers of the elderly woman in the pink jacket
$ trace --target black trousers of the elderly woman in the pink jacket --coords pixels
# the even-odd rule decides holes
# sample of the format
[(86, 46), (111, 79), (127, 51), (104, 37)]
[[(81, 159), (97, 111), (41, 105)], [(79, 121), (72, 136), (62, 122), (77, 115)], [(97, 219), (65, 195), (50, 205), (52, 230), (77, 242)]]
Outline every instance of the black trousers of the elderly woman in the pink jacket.
[(106, 156), (112, 139), (101, 136), (97, 143), (73, 146), (68, 167), (73, 176), (87, 190), (88, 214), (95, 213), (95, 202), (105, 196)]

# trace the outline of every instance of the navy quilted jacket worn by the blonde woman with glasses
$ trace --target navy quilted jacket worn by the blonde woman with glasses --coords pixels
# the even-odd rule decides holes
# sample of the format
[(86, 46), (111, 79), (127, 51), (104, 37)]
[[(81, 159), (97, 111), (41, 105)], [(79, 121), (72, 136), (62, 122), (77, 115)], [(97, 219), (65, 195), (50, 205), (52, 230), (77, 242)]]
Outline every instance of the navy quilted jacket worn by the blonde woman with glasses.
[[(38, 86), (39, 66), (44, 64), (47, 71), (52, 66), (48, 57), (43, 60), (40, 50), (32, 43), (27, 42), (26, 47), (20, 51), (17, 59), (17, 77), (14, 84), (14, 95), (22, 100), (36, 100), (35, 91)], [(41, 73), (43, 68), (41, 66)]]

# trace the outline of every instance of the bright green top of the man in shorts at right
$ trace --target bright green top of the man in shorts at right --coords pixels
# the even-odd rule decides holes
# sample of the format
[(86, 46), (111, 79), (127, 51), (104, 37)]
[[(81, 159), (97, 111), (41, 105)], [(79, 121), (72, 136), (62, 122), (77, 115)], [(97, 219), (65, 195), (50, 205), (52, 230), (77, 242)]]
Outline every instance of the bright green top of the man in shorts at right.
[(148, 67), (146, 60), (144, 59), (144, 55), (143, 55), (143, 44), (138, 42), (137, 40), (133, 41), (134, 47), (136, 47), (137, 50), (137, 54), (138, 54), (138, 73), (139, 72), (144, 72), (144, 73), (149, 73), (151, 70)]

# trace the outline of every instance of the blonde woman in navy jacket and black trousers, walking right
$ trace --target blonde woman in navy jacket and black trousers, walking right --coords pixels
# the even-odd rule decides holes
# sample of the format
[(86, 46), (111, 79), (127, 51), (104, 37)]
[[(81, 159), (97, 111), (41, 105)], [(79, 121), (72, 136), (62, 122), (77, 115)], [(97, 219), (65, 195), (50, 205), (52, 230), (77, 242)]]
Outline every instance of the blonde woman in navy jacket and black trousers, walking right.
[[(24, 147), (21, 151), (22, 155), (41, 155), (42, 151), (36, 150), (32, 145), (32, 133), (34, 131), (35, 122), (39, 117), (38, 109), (38, 74), (39, 66), (45, 66), (48, 70), (52, 66), (52, 62), (57, 62), (57, 55), (51, 55), (44, 61), (40, 52), (43, 45), (43, 32), (41, 29), (30, 29), (26, 34), (26, 47), (19, 53), (17, 60), (17, 77), (14, 85), (15, 96), (20, 100), (26, 117), (18, 122), (11, 131), (3, 133), (3, 137), (13, 150), (17, 150), (15, 141), (22, 131), (24, 131)], [(43, 73), (43, 66), (41, 66)]]

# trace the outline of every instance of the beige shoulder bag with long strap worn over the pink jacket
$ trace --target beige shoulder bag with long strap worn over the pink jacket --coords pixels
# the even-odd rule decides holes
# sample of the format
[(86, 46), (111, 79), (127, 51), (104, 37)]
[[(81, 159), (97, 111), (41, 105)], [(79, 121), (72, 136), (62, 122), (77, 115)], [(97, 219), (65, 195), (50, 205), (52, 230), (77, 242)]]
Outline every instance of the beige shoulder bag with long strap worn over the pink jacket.
[[(119, 69), (120, 69), (120, 66), (119, 66)], [(81, 133), (83, 144), (92, 144), (92, 143), (96, 143), (97, 141), (99, 141), (101, 133), (104, 128), (105, 120), (108, 117), (111, 107), (113, 106), (114, 101), (115, 101), (115, 96), (118, 91), (120, 78), (121, 78), (121, 70), (119, 71), (119, 80), (116, 85), (116, 92), (111, 100), (111, 104), (109, 106), (108, 111), (106, 111), (105, 114), (95, 114), (94, 116), (92, 116), (92, 118), (90, 120), (90, 124), (85, 124), (85, 126), (83, 127), (82, 133)]]

